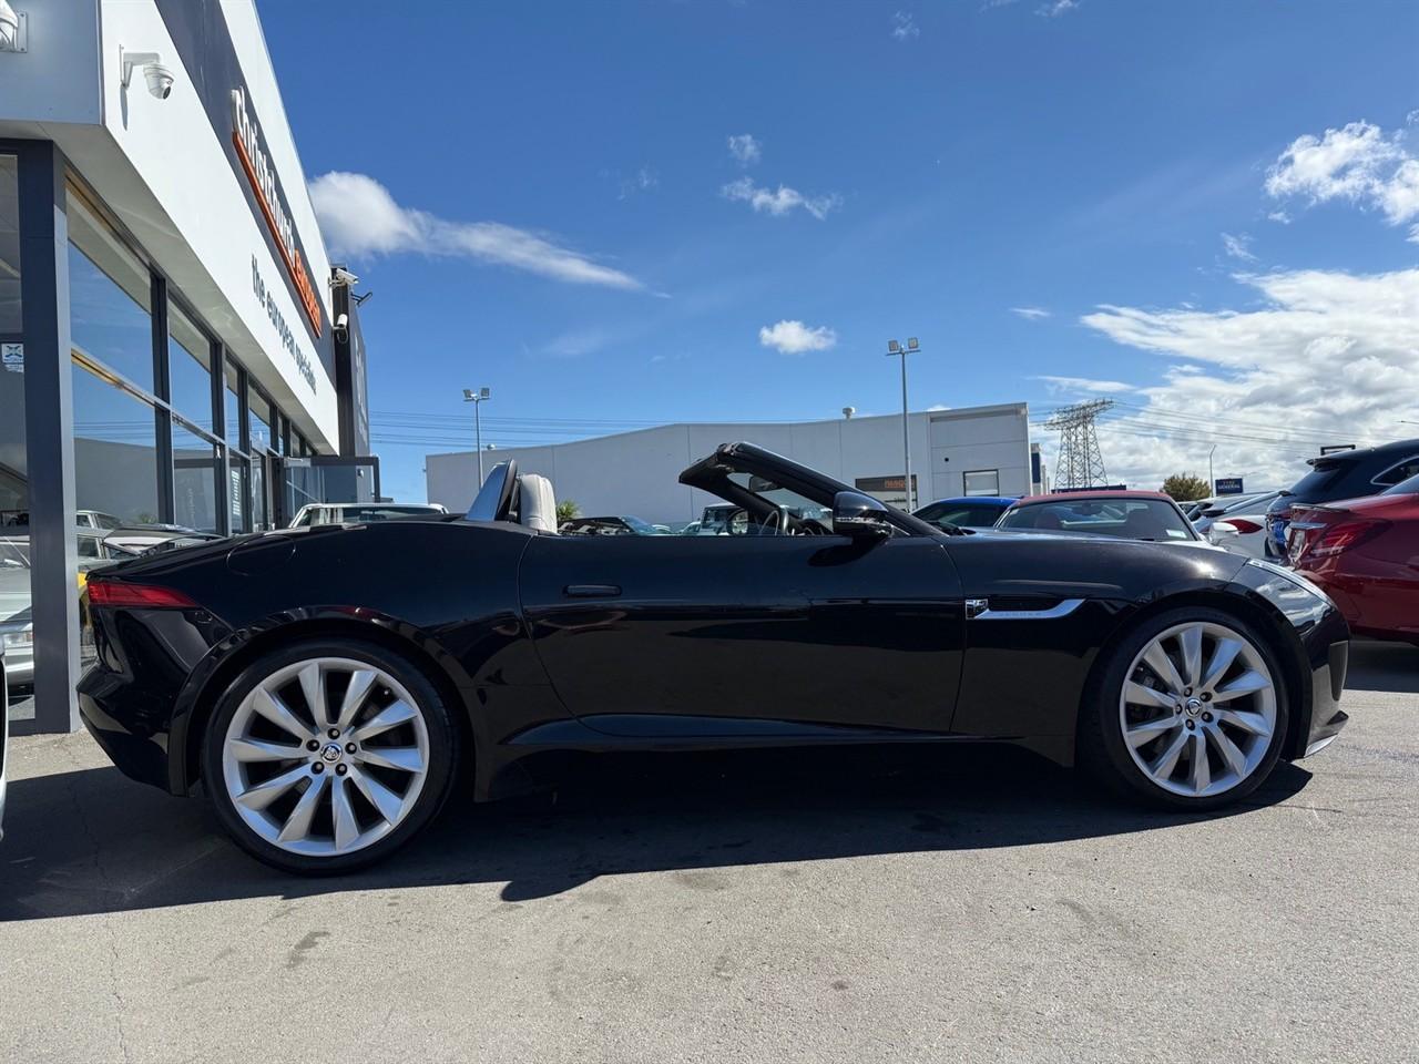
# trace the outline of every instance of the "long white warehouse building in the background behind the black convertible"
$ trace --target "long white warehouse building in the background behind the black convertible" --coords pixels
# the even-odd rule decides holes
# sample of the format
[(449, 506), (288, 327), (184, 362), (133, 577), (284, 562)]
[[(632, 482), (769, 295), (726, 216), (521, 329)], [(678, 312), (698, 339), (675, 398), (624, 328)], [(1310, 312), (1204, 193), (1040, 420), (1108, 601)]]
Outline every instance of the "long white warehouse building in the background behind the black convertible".
[[(1025, 403), (925, 410), (908, 416), (914, 502), (956, 495), (1027, 495), (1040, 489)], [(901, 414), (830, 421), (681, 423), (546, 447), (484, 454), (484, 470), (515, 460), (552, 481), (558, 499), (586, 516), (634, 515), (653, 523), (695, 521), (719, 499), (678, 482), (680, 472), (724, 443), (749, 441), (846, 484), (904, 505)], [(465, 511), (477, 494), (474, 451), (430, 454), (429, 501)]]

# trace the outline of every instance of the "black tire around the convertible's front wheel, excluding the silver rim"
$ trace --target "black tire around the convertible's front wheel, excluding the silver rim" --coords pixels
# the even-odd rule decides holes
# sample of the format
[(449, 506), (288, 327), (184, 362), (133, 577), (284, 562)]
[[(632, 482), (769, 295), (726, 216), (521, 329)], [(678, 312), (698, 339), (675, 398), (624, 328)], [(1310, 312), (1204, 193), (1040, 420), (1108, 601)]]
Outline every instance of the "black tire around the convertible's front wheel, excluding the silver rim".
[[(1264, 753), (1252, 775), (1219, 794), (1183, 796), (1156, 785), (1130, 755), (1124, 741), (1124, 724), (1120, 719), (1120, 697), (1127, 680), (1125, 672), (1134, 658), (1159, 634), (1189, 621), (1222, 624), (1244, 637), (1266, 661), (1276, 691), (1276, 725)], [(1270, 644), (1257, 633), (1254, 624), (1230, 613), (1203, 606), (1166, 610), (1148, 617), (1114, 644), (1095, 677), (1095, 682), (1084, 697), (1084, 705), (1080, 706), (1076, 762), (1112, 793), (1134, 802), (1142, 799), (1162, 809), (1206, 811), (1246, 797), (1260, 787), (1276, 767), (1290, 726), (1290, 701), (1286, 691), (1286, 674), (1281, 671)]]

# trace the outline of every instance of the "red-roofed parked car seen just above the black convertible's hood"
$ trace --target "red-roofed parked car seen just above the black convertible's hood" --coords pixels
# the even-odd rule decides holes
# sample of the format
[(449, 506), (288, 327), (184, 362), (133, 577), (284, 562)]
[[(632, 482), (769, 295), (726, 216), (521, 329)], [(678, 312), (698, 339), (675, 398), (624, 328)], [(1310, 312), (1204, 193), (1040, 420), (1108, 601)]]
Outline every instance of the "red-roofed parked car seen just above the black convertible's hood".
[(1200, 539), (1178, 504), (1161, 491), (1029, 495), (1005, 511), (995, 526), (1010, 532), (1063, 532), (1115, 539)]

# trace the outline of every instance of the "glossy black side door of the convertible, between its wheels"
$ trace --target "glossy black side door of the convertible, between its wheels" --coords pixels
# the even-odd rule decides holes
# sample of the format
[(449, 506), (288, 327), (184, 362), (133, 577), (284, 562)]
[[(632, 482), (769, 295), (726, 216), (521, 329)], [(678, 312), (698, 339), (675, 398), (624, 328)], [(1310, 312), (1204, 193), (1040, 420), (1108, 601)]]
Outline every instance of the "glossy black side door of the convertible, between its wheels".
[(521, 590), (558, 694), (602, 731), (951, 725), (965, 620), (935, 536), (538, 536)]

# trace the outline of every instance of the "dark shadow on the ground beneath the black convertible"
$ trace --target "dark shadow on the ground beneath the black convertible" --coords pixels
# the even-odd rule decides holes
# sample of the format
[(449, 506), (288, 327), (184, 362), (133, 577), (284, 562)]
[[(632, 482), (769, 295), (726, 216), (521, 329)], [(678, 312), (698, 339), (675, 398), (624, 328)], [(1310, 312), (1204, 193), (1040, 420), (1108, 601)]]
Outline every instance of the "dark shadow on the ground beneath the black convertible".
[(985, 746), (602, 755), (568, 766), (548, 794), (443, 816), (389, 861), (298, 878), (248, 858), (201, 800), (116, 769), (11, 780), (0, 848), (0, 921), (123, 912), (257, 897), (504, 884), (507, 902), (599, 877), (675, 871), (714, 890), (722, 865), (908, 851), (969, 851), (1147, 831), (1244, 814), (1296, 794), (1310, 773), (1281, 763), (1240, 806), (1152, 811), (1095, 792), (1025, 750)]

